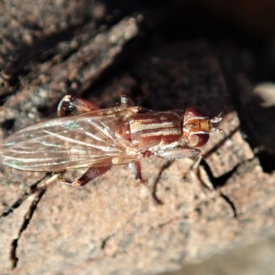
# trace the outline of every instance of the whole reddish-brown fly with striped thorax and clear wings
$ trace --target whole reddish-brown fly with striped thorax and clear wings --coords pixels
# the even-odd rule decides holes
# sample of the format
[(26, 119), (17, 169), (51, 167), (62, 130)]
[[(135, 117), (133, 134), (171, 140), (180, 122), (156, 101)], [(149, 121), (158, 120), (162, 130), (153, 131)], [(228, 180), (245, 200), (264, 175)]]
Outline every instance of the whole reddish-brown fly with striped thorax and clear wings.
[(152, 111), (135, 107), (124, 95), (120, 106), (109, 109), (65, 96), (58, 105), (58, 116), (6, 138), (0, 145), (1, 162), (28, 171), (86, 168), (72, 183), (61, 177), (63, 183), (73, 186), (84, 186), (113, 165), (129, 164), (135, 179), (144, 183), (141, 159), (192, 157), (197, 167), (199, 147), (208, 142), (210, 133), (222, 132), (213, 126), (221, 117), (210, 119), (198, 107)]

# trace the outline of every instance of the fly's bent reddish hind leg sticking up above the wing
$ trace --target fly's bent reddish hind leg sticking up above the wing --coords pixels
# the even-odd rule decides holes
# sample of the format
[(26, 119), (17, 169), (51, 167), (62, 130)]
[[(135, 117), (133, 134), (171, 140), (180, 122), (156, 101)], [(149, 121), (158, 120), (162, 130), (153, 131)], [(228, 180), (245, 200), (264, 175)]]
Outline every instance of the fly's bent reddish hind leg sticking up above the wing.
[(83, 98), (77, 98), (76, 96), (64, 96), (57, 107), (58, 117), (63, 117), (68, 113), (87, 113), (89, 111), (95, 111), (100, 109), (96, 104), (91, 103)]

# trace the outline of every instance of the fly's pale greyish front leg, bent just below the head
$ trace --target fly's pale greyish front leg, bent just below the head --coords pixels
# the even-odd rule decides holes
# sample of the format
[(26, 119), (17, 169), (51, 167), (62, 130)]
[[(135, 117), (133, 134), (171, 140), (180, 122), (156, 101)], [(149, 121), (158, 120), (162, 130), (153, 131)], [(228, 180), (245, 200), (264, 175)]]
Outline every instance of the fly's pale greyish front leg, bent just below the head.
[(192, 147), (175, 147), (171, 148), (170, 150), (164, 151), (160, 157), (163, 157), (164, 159), (182, 159), (184, 157), (190, 157), (195, 159), (194, 164), (191, 166), (191, 169), (197, 169), (199, 166), (199, 163), (201, 162), (201, 150), (197, 148)]

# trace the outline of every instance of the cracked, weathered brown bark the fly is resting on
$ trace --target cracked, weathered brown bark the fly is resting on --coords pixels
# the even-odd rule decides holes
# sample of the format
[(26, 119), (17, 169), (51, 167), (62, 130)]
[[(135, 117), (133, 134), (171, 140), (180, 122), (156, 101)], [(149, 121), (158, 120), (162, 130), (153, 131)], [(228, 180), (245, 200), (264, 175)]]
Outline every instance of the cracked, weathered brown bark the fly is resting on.
[[(148, 186), (137, 185), (126, 166), (117, 166), (84, 188), (52, 184), (32, 194), (30, 189), (43, 185), (50, 175), (3, 167), (1, 271), (157, 274), (270, 234), (275, 223), (274, 174), (263, 172), (243, 140), (228, 96), (229, 80), (210, 43), (157, 40), (150, 48), (142, 47), (141, 17), (100, 28), (107, 17), (103, 4), (101, 17), (92, 14), (93, 19), (85, 21), (83, 14), (96, 12), (98, 4), (88, 9), (85, 3), (70, 3), (63, 10), (73, 14), (69, 19), (58, 9), (54, 13), (52, 20), (59, 22), (55, 32), (46, 28), (54, 23), (42, 24), (43, 16), (34, 17), (42, 25), (39, 35), (51, 42), (50, 50), (36, 49), (41, 40), (36, 42), (32, 30), (22, 30), (24, 41), (31, 35), (33, 44), (24, 51), (26, 47), (10, 47), (14, 62), (8, 57), (1, 61), (1, 137), (54, 117), (58, 100), (69, 93), (101, 107), (113, 106), (120, 94), (128, 94), (153, 109), (199, 105), (209, 116), (223, 111), (220, 127), (225, 135), (212, 135), (203, 147), (199, 173), (190, 171), (191, 159), (142, 162)], [(63, 21), (74, 32), (57, 43), (56, 30), (63, 33)], [(20, 23), (15, 32), (20, 32)], [(1, 47), (5, 52), (8, 42)], [(28, 54), (30, 49), (35, 52)], [(248, 89), (245, 85), (239, 92), (247, 94)], [(245, 109), (250, 101), (241, 102)], [(201, 188), (201, 182), (208, 189)]]

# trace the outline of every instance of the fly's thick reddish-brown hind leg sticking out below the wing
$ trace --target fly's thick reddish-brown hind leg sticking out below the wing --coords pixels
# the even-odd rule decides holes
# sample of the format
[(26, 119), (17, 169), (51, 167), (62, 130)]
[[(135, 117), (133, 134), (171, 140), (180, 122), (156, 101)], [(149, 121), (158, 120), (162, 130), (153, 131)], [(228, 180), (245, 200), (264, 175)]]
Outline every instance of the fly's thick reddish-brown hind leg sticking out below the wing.
[(111, 169), (111, 166), (101, 166), (101, 167), (89, 167), (85, 173), (78, 177), (74, 182), (68, 182), (63, 177), (60, 177), (62, 184), (72, 185), (72, 186), (85, 186), (89, 181), (93, 181), (98, 177), (107, 173)]

